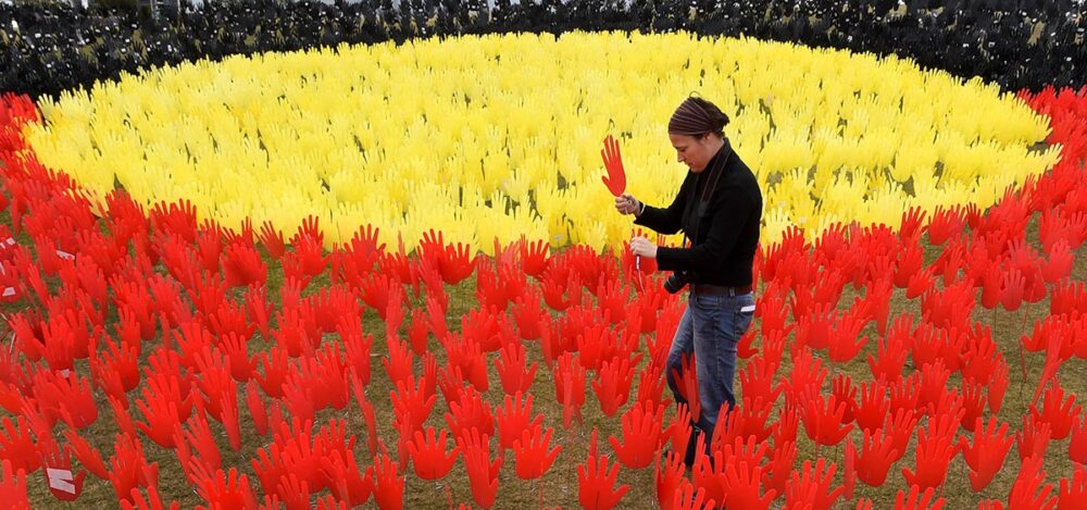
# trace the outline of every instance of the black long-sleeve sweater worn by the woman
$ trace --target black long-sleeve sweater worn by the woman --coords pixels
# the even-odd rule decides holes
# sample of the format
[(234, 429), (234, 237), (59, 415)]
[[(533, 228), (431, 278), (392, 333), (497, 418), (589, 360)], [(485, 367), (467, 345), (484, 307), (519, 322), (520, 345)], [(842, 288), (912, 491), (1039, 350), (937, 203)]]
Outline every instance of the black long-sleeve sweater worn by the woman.
[[(719, 160), (723, 158), (722, 165)], [(723, 173), (714, 177), (714, 172)], [(708, 183), (713, 184), (713, 189), (702, 203)], [(659, 269), (689, 271), (694, 284), (739, 287), (752, 282), (751, 265), (761, 221), (759, 181), (725, 142), (705, 165), (705, 171), (687, 173), (671, 206), (661, 209), (647, 204), (634, 223), (661, 234), (683, 229), (692, 239), (690, 248), (659, 247)]]

